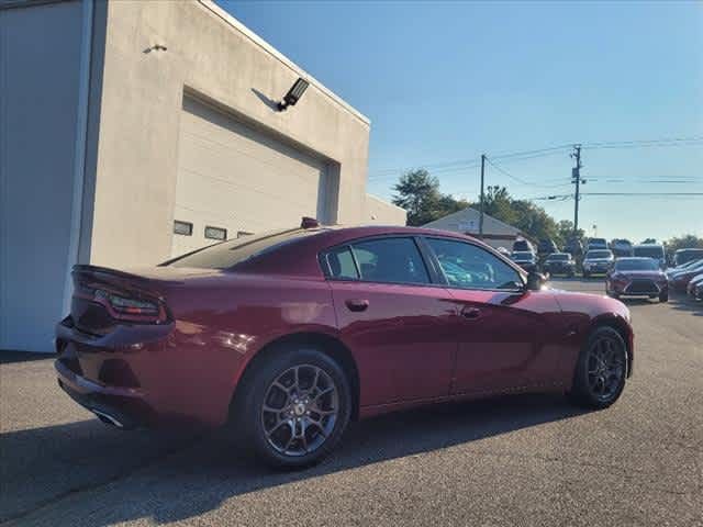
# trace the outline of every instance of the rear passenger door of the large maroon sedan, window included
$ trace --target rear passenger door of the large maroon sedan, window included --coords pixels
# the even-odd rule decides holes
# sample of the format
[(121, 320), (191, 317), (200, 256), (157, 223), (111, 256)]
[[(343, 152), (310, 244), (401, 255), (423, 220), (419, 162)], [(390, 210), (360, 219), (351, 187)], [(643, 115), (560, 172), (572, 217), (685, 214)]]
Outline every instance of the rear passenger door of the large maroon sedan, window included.
[(448, 395), (455, 307), (412, 236), (364, 238), (323, 255), (342, 340), (353, 350), (360, 405)]

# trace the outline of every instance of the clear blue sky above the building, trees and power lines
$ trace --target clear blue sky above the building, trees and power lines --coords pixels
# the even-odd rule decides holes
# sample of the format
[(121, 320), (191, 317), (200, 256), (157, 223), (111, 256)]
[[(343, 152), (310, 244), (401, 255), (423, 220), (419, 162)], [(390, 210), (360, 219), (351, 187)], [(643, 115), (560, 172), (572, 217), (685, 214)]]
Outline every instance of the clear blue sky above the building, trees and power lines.
[[(387, 199), (403, 169), (427, 166), (444, 192), (475, 200), (467, 161), (481, 153), (703, 137), (701, 2), (219, 3), (370, 117), (368, 190)], [(495, 159), (523, 182), (490, 166), (487, 182), (569, 194), (572, 161), (551, 154)], [(584, 192), (703, 192), (703, 142), (582, 156)], [(538, 203), (573, 216), (572, 200)], [(580, 225), (634, 242), (703, 236), (703, 195), (585, 195)]]

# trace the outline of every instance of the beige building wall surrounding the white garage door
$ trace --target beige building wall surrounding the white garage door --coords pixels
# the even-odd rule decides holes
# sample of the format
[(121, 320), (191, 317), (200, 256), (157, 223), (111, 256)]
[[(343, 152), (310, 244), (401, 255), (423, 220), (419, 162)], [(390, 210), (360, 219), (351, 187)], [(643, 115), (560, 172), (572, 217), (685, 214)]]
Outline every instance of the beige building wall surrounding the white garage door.
[[(275, 111), (298, 77), (310, 80), (308, 91)], [(109, 2), (102, 87), (91, 262), (129, 267), (170, 255), (185, 90), (330, 159), (336, 221), (364, 221), (368, 120), (213, 3)]]

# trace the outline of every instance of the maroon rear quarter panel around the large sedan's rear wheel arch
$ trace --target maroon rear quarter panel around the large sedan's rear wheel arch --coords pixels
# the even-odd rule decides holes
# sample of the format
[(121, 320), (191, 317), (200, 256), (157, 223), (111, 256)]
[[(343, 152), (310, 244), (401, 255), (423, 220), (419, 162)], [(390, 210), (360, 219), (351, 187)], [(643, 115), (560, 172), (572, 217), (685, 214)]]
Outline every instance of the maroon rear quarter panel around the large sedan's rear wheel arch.
[[(175, 328), (165, 344), (169, 372), (164, 404), (190, 407), (223, 423), (236, 383), (254, 356), (295, 333), (336, 335), (330, 287), (323, 279), (232, 273), (211, 284), (168, 293)], [(175, 390), (176, 384), (180, 384)]]

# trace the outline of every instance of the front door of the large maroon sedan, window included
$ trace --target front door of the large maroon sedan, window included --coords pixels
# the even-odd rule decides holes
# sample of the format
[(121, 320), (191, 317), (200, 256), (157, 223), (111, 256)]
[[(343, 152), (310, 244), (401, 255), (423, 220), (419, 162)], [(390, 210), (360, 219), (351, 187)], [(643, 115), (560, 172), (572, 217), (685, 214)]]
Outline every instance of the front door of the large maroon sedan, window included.
[(548, 330), (559, 312), (553, 294), (526, 291), (512, 266), (476, 244), (442, 237), (423, 243), (444, 274), (460, 321), (454, 393), (548, 382), (559, 349)]

